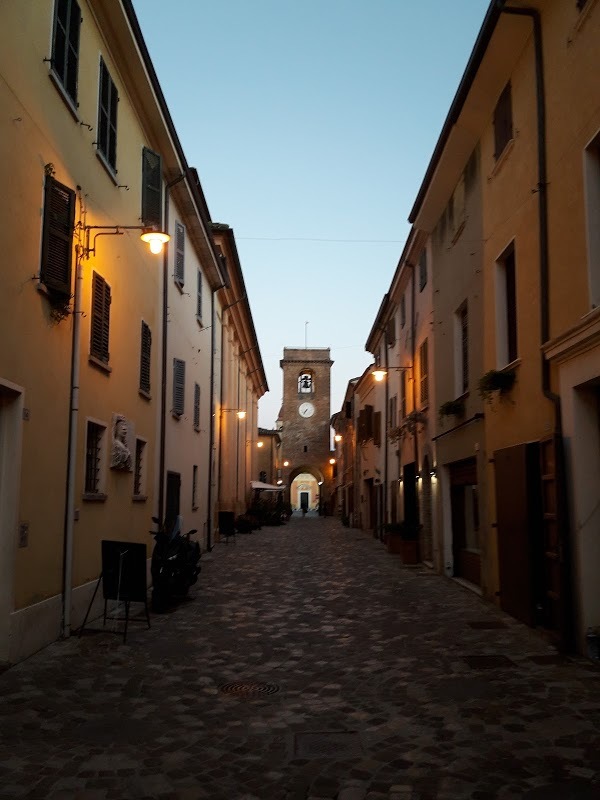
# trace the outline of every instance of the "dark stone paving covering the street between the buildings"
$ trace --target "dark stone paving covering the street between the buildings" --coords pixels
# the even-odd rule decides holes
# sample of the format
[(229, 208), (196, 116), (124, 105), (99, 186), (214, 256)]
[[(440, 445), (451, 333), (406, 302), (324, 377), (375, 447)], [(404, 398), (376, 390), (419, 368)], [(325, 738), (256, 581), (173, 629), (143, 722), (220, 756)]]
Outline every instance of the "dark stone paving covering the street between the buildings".
[(236, 538), (0, 675), (2, 800), (600, 798), (595, 664), (335, 519)]

